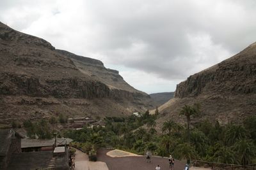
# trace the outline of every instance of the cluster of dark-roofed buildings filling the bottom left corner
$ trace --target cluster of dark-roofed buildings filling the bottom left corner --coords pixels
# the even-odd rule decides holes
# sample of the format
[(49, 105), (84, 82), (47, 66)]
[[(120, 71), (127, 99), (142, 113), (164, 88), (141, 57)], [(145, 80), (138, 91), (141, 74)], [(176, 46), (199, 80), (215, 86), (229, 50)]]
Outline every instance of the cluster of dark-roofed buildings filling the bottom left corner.
[(0, 130), (1, 170), (70, 169), (68, 145), (72, 139), (38, 140), (20, 138), (21, 136), (12, 129)]

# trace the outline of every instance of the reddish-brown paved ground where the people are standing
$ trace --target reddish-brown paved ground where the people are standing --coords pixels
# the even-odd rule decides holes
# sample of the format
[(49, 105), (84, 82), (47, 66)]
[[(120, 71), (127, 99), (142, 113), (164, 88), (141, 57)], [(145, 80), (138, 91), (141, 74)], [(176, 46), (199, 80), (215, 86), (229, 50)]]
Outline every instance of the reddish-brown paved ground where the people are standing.
[[(168, 159), (152, 157), (152, 162), (146, 161), (145, 157), (109, 157), (106, 155), (110, 150), (99, 150), (97, 159), (106, 162), (109, 170), (155, 170), (159, 165), (161, 170), (169, 170)], [(185, 164), (175, 160), (174, 170), (183, 170)], [(90, 169), (91, 170), (91, 169)]]

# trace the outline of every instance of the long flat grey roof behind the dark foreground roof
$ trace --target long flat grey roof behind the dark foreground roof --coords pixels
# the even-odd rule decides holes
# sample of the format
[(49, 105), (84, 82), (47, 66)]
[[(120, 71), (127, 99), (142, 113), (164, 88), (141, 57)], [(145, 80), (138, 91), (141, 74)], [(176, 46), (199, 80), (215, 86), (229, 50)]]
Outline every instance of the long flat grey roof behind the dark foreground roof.
[[(67, 140), (67, 145), (71, 141), (70, 138), (57, 138), (58, 145), (65, 145), (65, 143), (61, 143), (63, 139)], [(36, 147), (45, 147), (52, 146), (54, 144), (54, 139), (21, 139), (21, 148), (36, 148)]]

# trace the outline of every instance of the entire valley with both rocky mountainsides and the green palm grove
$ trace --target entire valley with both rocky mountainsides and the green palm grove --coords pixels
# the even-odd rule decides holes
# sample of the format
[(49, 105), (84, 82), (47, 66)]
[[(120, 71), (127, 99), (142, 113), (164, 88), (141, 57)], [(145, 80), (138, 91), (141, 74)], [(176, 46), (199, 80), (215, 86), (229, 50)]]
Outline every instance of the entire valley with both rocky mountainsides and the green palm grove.
[(101, 148), (115, 148), (255, 168), (256, 43), (189, 76), (175, 92), (150, 95), (100, 60), (1, 22), (0, 59), (1, 129), (22, 138), (70, 138), (92, 160)]

